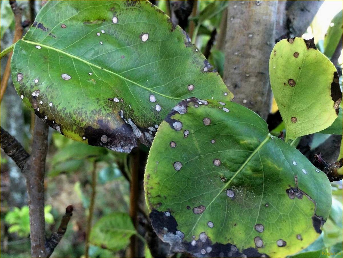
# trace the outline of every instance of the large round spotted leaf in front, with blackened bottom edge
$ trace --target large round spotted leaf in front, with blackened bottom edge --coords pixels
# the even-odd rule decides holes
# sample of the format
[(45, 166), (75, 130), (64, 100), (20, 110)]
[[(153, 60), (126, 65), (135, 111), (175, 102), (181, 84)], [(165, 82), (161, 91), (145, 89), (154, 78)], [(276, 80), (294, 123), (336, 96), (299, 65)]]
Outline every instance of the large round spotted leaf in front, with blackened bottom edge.
[(157, 235), (196, 257), (284, 257), (312, 243), (330, 182), (233, 102), (191, 98), (159, 126), (144, 188)]

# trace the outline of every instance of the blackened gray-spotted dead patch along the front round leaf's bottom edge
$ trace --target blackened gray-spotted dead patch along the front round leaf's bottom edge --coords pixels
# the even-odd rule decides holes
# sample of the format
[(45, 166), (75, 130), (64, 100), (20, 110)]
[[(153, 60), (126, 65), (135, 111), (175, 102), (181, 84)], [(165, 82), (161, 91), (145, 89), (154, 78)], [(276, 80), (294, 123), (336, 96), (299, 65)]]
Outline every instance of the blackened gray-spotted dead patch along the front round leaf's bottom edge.
[[(206, 232), (193, 236), (190, 242), (185, 233), (178, 230), (178, 223), (169, 211), (152, 210), (150, 220), (157, 236), (170, 245), (170, 253), (188, 253), (194, 257), (269, 257), (254, 247), (240, 251), (237, 246), (226, 243), (212, 243)], [(208, 230), (212, 230), (211, 227)]]

